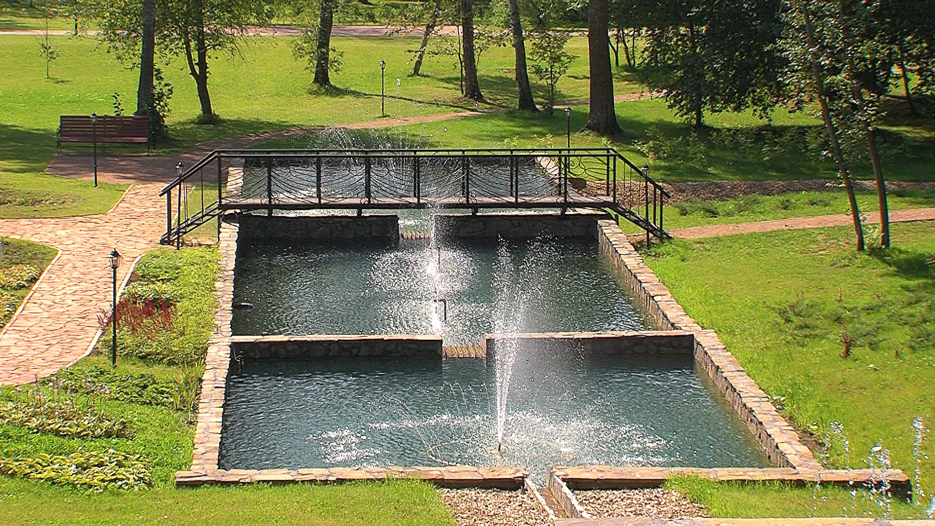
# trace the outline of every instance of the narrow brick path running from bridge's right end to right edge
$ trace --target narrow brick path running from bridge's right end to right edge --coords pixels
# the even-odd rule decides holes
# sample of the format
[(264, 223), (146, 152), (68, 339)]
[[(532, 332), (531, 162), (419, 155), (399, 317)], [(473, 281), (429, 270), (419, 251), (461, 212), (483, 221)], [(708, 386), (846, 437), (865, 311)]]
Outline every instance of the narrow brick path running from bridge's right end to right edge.
[[(926, 220), (935, 220), (935, 208), (894, 210), (889, 212), (890, 223), (907, 223)], [(866, 219), (864, 219), (864, 223), (880, 223), (880, 214), (868, 214)], [(729, 236), (731, 234), (748, 234), (751, 232), (771, 232), (773, 230), (850, 225), (853, 225), (851, 216), (846, 213), (840, 213), (833, 215), (815, 215), (812, 217), (790, 217), (789, 219), (774, 219), (771, 221), (753, 221), (734, 225), (692, 226), (689, 228), (669, 230), (669, 234), (676, 239), (696, 239)]]

